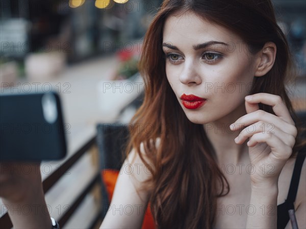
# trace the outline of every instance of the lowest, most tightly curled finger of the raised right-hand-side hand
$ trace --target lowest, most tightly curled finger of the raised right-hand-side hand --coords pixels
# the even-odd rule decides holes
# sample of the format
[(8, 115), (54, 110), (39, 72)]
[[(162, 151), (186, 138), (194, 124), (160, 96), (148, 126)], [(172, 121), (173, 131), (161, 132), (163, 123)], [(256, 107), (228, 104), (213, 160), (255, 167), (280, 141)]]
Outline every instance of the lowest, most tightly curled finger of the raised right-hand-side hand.
[(287, 160), (291, 153), (292, 148), (287, 146), (275, 134), (256, 133), (253, 134), (247, 142), (248, 147), (254, 147), (259, 142), (265, 142), (271, 148), (271, 154), (274, 159)]

